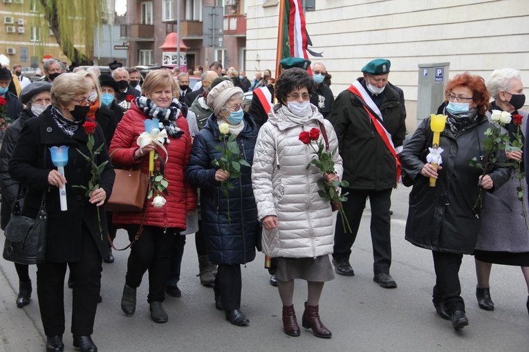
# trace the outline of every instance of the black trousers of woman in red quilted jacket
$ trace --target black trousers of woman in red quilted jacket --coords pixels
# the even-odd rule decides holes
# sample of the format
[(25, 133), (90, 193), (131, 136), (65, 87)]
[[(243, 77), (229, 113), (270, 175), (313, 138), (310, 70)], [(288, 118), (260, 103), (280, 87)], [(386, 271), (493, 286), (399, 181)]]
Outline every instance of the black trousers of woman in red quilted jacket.
[[(129, 239), (132, 241), (140, 225), (127, 225)], [(142, 282), (143, 274), (149, 270), (149, 295), (147, 302), (163, 302), (165, 298), (165, 280), (169, 274), (171, 250), (174, 229), (158, 228), (157, 226), (143, 226), (140, 239), (131, 247), (131, 254), (127, 261), (127, 275), (125, 284), (137, 288)]]

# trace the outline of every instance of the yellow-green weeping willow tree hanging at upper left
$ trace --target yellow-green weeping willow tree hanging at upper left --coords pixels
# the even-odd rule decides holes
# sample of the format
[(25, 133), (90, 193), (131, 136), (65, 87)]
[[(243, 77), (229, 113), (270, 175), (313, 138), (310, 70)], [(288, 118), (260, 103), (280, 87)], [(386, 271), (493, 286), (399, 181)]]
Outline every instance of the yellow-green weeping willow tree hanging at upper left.
[(57, 44), (72, 62), (91, 65), (95, 28), (100, 28), (106, 0), (39, 0)]

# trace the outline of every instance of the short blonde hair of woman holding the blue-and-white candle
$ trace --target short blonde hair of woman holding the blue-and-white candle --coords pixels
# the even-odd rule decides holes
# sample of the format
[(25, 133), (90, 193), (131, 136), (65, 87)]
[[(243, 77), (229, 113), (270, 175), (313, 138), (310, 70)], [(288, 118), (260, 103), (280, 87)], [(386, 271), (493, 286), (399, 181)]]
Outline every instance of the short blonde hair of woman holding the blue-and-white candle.
[(51, 104), (57, 109), (69, 105), (76, 95), (89, 94), (92, 84), (77, 73), (63, 73), (53, 80)]

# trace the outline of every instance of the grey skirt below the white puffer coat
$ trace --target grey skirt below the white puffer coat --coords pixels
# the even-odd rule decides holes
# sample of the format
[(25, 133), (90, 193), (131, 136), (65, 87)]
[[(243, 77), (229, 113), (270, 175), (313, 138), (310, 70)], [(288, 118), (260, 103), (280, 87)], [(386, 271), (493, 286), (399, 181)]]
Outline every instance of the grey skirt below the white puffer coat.
[(328, 255), (314, 258), (277, 258), (276, 277), (280, 281), (302, 279), (324, 282), (334, 279), (334, 270)]

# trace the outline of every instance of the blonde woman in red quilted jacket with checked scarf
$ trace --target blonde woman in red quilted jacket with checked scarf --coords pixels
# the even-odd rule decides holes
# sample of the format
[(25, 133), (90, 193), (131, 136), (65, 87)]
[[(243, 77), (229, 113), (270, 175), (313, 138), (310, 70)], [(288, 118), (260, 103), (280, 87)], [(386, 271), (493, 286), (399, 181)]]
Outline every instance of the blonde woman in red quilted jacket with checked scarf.
[[(162, 302), (173, 237), (185, 230), (187, 212), (196, 208), (196, 189), (187, 184), (185, 168), (191, 151), (191, 136), (187, 121), (178, 109), (178, 99), (173, 77), (167, 71), (152, 71), (143, 83), (144, 95), (133, 100), (124, 114), (110, 145), (112, 163), (120, 167), (140, 167), (149, 173), (149, 152), (156, 150), (158, 169), (168, 182), (164, 205), (154, 205), (153, 198), (147, 200), (147, 214), (143, 221), (141, 237), (131, 247), (127, 264), (127, 276), (121, 299), (121, 308), (127, 315), (136, 311), (136, 288), (140, 286), (143, 274), (149, 270), (149, 295), (151, 317), (154, 322), (167, 322), (167, 313)], [(163, 147), (154, 142), (139, 147), (137, 140), (145, 132), (144, 121), (160, 120), (160, 132), (167, 132)], [(149, 131), (150, 132), (150, 131)], [(136, 237), (144, 211), (114, 212), (113, 222), (122, 225), (132, 241)]]

